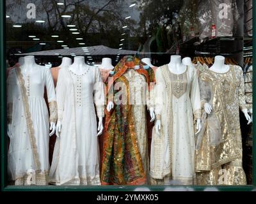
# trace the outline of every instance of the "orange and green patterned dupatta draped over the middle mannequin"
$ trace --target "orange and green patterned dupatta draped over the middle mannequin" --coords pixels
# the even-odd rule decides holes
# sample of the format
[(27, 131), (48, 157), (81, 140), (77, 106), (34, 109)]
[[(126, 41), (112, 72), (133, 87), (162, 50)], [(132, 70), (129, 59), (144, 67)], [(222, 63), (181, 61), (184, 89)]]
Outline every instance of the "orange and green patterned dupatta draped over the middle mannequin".
[(102, 185), (143, 185), (147, 181), (134, 128), (133, 108), (129, 105), (129, 82), (124, 77), (127, 69), (134, 69), (135, 66), (139, 68), (136, 71), (147, 79), (148, 87), (150, 82), (154, 82), (153, 69), (143, 69), (143, 63), (136, 57), (126, 56), (116, 65), (115, 75), (108, 83), (107, 90), (110, 91), (116, 83), (122, 82), (126, 89), (127, 103), (115, 105), (110, 113), (106, 112)]

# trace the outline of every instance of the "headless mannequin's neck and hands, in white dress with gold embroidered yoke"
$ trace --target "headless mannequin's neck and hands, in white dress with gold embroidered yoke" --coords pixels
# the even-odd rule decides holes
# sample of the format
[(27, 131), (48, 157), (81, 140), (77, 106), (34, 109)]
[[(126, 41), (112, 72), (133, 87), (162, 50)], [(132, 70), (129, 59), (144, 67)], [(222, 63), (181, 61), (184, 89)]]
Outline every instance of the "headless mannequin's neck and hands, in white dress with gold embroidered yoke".
[[(170, 72), (175, 73), (176, 75), (180, 75), (186, 71), (186, 65), (182, 64), (180, 55), (172, 55), (171, 61), (168, 64), (168, 68)], [(201, 120), (196, 120), (196, 135), (201, 131), (202, 125)], [(156, 120), (156, 133), (160, 135), (161, 130), (161, 120)]]

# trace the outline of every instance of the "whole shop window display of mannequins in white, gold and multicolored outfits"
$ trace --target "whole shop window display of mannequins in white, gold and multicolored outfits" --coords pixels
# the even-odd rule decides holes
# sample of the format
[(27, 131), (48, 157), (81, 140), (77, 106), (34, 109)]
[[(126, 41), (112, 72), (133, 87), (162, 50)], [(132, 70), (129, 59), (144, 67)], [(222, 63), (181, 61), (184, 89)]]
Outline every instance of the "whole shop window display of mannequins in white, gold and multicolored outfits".
[(252, 1), (5, 5), (6, 185), (252, 184)]

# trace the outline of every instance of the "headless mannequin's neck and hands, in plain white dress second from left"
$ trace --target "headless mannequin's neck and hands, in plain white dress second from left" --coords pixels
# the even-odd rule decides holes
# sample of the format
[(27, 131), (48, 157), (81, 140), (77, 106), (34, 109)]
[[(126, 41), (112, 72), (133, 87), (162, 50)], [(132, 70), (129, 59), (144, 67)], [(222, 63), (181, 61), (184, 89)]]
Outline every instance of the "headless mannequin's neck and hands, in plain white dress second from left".
[[(84, 71), (88, 69), (88, 65), (85, 64), (84, 62), (84, 57), (74, 57), (74, 63), (69, 66), (70, 71), (76, 73), (77, 75), (83, 75)], [(99, 117), (99, 126), (98, 126), (98, 134), (97, 136), (102, 134), (103, 131), (103, 118)], [(57, 126), (56, 126), (56, 135), (60, 137), (60, 132), (61, 132), (62, 124), (61, 121), (58, 120)]]

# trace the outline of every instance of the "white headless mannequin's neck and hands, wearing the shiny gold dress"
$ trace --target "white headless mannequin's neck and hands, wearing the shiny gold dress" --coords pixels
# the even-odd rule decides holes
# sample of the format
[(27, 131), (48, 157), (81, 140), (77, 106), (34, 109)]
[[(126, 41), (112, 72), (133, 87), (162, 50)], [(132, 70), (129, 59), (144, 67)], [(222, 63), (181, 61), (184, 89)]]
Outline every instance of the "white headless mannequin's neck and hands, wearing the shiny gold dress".
[[(215, 73), (226, 73), (229, 69), (230, 67), (225, 64), (225, 57), (223, 56), (216, 56), (214, 59), (214, 64), (210, 68), (210, 70)], [(212, 112), (212, 106), (209, 105), (209, 103), (205, 103), (204, 110), (207, 114), (210, 114)], [(248, 120), (248, 124), (250, 124), (252, 122), (252, 119), (250, 115), (248, 115), (247, 108), (244, 108), (242, 112), (244, 113), (246, 120)]]

